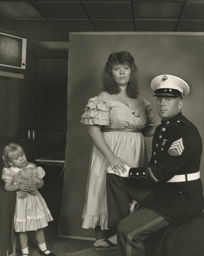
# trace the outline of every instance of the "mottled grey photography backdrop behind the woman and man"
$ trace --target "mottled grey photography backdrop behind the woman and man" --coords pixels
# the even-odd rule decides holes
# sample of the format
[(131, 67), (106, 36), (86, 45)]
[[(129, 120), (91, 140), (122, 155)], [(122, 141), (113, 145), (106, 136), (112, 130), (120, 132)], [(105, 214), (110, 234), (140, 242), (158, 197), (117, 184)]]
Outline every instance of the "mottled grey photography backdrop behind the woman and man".
[[(70, 33), (68, 62), (68, 130), (59, 237), (94, 238), (83, 229), (87, 173), (92, 147), (88, 126), (80, 123), (87, 101), (102, 90), (101, 74), (110, 53), (129, 51), (139, 70), (140, 94), (150, 102), (156, 116), (156, 98), (150, 83), (155, 76), (171, 74), (184, 79), (190, 93), (182, 113), (204, 138), (204, 33)], [(148, 159), (151, 140), (146, 138)], [(204, 184), (204, 157), (201, 162)]]

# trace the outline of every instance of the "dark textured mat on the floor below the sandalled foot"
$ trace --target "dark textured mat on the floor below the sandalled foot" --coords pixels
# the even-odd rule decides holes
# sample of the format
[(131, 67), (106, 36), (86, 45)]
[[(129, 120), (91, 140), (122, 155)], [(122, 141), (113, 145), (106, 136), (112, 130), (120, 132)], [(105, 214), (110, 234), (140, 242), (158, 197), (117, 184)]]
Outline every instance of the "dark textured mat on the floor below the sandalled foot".
[(78, 251), (76, 253), (68, 253), (65, 256), (117, 256), (117, 251), (97, 251), (93, 248)]

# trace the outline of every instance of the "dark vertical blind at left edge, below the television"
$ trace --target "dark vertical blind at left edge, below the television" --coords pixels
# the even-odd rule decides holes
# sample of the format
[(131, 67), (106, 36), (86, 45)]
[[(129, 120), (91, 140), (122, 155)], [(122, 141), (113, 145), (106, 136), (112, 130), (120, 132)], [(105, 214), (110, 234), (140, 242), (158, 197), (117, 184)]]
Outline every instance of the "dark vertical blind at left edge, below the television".
[(11, 78), (0, 77), (0, 137), (11, 131)]

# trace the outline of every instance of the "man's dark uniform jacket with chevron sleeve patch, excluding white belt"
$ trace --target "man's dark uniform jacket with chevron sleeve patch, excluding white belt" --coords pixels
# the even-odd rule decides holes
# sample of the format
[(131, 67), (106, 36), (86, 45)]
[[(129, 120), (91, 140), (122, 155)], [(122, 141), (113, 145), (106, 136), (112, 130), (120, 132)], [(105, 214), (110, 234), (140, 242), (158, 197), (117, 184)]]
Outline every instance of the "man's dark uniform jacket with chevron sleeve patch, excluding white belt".
[[(175, 175), (199, 171), (202, 140), (196, 126), (180, 112), (162, 120), (152, 141), (148, 168), (131, 168), (129, 178), (150, 185), (155, 193), (143, 208), (176, 223), (185, 223), (204, 209), (201, 179), (167, 182)], [(202, 170), (201, 170), (202, 171)]]

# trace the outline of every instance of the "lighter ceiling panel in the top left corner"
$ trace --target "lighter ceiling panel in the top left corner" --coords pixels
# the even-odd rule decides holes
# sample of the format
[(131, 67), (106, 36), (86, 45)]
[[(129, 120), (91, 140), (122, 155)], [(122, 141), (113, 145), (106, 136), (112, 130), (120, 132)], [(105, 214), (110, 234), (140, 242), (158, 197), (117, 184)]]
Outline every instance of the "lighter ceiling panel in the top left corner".
[(0, 1), (0, 15), (6, 19), (42, 19), (43, 16), (29, 2)]

